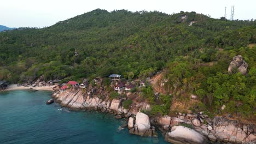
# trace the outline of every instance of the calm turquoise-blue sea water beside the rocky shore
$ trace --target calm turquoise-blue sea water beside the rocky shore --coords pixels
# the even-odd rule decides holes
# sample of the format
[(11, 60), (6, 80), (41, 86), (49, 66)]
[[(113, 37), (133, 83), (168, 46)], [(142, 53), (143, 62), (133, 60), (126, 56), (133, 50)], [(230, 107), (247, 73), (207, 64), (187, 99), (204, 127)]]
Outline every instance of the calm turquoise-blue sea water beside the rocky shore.
[[(108, 113), (70, 111), (46, 105), (47, 91), (0, 92), (0, 143), (167, 143), (129, 134)], [(62, 109), (62, 110), (61, 110)]]

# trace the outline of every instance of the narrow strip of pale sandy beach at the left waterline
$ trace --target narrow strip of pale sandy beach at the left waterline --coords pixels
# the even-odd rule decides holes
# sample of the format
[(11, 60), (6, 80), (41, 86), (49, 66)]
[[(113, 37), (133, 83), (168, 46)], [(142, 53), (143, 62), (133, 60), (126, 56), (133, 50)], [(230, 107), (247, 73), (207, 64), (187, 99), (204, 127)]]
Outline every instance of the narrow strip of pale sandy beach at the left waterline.
[[(34, 90), (38, 91), (53, 91), (54, 86), (42, 86), (42, 87), (32, 87)], [(14, 91), (14, 90), (22, 90), (22, 89), (30, 89), (31, 87), (24, 87), (20, 86), (18, 87), (17, 84), (11, 84), (5, 89), (4, 91)]]

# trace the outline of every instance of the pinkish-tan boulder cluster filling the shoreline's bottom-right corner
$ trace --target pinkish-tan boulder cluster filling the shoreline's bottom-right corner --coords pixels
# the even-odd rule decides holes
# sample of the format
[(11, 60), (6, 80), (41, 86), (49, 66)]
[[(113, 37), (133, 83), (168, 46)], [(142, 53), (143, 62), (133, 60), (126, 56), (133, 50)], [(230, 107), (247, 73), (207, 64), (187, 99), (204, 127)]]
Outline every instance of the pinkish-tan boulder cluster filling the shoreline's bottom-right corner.
[(256, 142), (255, 125), (244, 125), (221, 117), (211, 119), (202, 112), (160, 117), (158, 124), (165, 139), (172, 143), (205, 143), (207, 138), (212, 142), (222, 143)]

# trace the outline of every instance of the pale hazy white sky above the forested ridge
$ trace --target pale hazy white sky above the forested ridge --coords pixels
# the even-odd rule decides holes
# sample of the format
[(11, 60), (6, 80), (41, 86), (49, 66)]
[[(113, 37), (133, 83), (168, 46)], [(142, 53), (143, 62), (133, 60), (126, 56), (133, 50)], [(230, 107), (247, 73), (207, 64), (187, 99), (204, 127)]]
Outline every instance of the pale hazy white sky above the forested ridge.
[(219, 18), (230, 18), (231, 5), (235, 5), (234, 19), (256, 19), (255, 0), (1, 0), (0, 25), (8, 27), (44, 27), (100, 8), (108, 11), (162, 11), (167, 14), (195, 11)]

